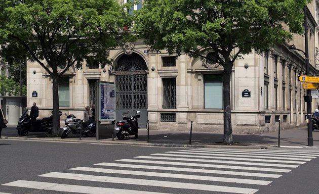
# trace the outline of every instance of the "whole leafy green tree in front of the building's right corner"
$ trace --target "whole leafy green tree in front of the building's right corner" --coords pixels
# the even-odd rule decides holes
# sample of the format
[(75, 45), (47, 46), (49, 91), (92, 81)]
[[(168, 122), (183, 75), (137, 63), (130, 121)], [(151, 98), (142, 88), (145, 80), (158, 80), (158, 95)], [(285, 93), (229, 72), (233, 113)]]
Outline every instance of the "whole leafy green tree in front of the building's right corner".
[[(230, 75), (234, 61), (303, 32), (311, 0), (145, 0), (135, 29), (153, 50), (214, 60), (223, 70), (223, 142), (232, 143)], [(286, 25), (287, 27), (284, 27)], [(219, 54), (207, 59), (203, 50)]]

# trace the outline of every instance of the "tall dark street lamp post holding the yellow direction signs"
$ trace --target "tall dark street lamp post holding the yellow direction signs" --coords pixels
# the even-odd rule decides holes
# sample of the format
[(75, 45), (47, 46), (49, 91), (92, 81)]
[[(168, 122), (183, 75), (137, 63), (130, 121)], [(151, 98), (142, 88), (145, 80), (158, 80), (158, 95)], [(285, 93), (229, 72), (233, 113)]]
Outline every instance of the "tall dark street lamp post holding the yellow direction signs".
[[(290, 45), (290, 50), (297, 50), (302, 52), (306, 58), (306, 75), (310, 74), (309, 67), (309, 52), (308, 52), (308, 26), (307, 26), (307, 6), (304, 7), (304, 26), (305, 26), (305, 52), (297, 49), (295, 45)], [(313, 146), (313, 138), (312, 138), (312, 120), (311, 120), (311, 90), (307, 89), (306, 95), (304, 96), (305, 101), (307, 102), (307, 120), (308, 120), (308, 146)]]

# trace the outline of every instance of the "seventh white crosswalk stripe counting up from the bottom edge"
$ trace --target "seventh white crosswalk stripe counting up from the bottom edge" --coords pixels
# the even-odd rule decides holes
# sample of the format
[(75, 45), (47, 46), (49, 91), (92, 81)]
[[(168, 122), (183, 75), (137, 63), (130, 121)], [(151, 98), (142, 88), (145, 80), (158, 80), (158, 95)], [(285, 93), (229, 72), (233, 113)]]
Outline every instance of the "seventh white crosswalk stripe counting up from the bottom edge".
[[(212, 159), (226, 159), (235, 161), (255, 161), (255, 162), (276, 162), (276, 163), (290, 163), (290, 164), (304, 164), (306, 162), (291, 161), (291, 160), (264, 160), (264, 159), (254, 159), (254, 158), (236, 158), (236, 157), (218, 157), (218, 156), (193, 156), (193, 155), (181, 155), (181, 154), (151, 154), (154, 156), (173, 156), (173, 157), (189, 157), (189, 158), (212, 158)], [(174, 158), (173, 158), (174, 160)], [(310, 161), (310, 160), (308, 160)]]

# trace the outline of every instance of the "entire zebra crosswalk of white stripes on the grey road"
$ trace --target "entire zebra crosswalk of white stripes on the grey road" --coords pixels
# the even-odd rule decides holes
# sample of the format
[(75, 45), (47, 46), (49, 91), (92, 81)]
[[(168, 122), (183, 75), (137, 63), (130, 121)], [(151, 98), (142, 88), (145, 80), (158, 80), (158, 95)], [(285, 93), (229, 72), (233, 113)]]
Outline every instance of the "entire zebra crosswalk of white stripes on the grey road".
[(318, 156), (319, 151), (306, 150), (184, 149), (49, 172), (38, 175), (43, 181), (3, 186), (92, 194), (252, 194)]

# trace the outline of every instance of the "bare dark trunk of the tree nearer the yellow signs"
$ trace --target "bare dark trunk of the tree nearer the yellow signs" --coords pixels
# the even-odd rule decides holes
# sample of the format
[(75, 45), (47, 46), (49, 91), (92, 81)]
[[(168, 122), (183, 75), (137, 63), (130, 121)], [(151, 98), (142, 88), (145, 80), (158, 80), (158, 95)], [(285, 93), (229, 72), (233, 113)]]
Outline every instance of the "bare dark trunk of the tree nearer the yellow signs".
[(224, 67), (223, 75), (223, 104), (224, 104), (224, 137), (223, 142), (232, 144), (231, 107), (230, 107), (230, 76), (232, 64)]

